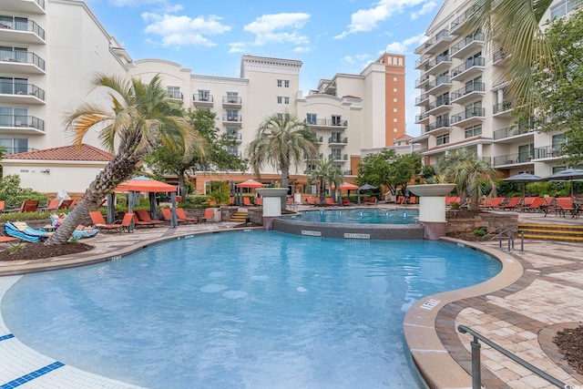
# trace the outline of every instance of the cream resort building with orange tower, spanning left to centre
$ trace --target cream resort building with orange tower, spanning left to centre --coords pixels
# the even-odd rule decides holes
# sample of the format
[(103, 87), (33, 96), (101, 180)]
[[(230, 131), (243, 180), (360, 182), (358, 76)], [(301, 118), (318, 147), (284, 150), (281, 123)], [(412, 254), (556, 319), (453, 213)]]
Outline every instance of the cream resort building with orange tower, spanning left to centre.
[[(23, 186), (49, 191), (42, 182), (47, 169), (55, 170), (38, 159), (36, 169), (19, 169), (18, 161), (30, 165), (30, 155), (18, 154), (70, 145), (66, 113), (87, 98), (100, 99), (98, 94), (87, 97), (92, 75), (139, 77), (143, 82), (160, 75), (169, 97), (183, 107), (217, 114), (217, 127), (235, 139), (231, 153), (242, 156), (264, 118), (295, 115), (316, 132), (322, 158), (354, 176), (364, 149), (393, 147), (394, 139), (404, 139), (404, 66), (404, 56), (385, 53), (360, 74), (336, 74), (304, 94), (298, 60), (242, 56), (240, 77), (199, 75), (164, 59), (132, 60), (83, 1), (2, 0), (0, 146), (6, 148), (10, 171), (20, 174)], [(99, 148), (97, 132), (88, 134), (85, 142)], [(295, 189), (309, 190), (305, 172), (312, 164), (302, 161), (291, 171), (291, 182), (300, 187)], [(39, 179), (43, 174), (45, 179)], [(240, 182), (251, 177), (251, 172), (197, 172), (193, 183), (201, 194), (211, 180)], [(266, 183), (276, 183), (279, 177), (269, 166), (261, 172)], [(80, 185), (64, 189), (85, 190)]]

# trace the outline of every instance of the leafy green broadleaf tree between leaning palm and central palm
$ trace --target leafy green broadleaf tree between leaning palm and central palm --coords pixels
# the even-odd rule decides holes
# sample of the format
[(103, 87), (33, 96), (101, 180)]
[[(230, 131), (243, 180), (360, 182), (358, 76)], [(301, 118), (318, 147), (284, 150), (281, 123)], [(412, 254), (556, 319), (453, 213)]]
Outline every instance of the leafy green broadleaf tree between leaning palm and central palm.
[(220, 135), (220, 129), (215, 126), (216, 114), (207, 110), (197, 109), (187, 113), (191, 126), (204, 141), (204, 152), (199, 148), (186, 153), (181, 148), (169, 148), (162, 143), (148, 155), (148, 166), (158, 175), (176, 175), (179, 179), (180, 194), (188, 194), (185, 178), (189, 172), (196, 169), (207, 171), (216, 169), (244, 170), (245, 162), (227, 151), (227, 147), (234, 145), (229, 134)]

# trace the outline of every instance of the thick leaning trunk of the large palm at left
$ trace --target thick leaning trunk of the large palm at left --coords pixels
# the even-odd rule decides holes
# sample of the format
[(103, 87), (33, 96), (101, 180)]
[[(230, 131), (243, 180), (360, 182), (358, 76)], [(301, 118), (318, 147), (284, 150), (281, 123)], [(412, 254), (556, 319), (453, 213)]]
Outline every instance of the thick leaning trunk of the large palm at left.
[(135, 156), (126, 155), (116, 156), (112, 159), (98, 175), (97, 178), (89, 185), (83, 199), (81, 199), (75, 208), (67, 215), (65, 221), (55, 233), (45, 242), (47, 246), (66, 243), (81, 224), (81, 221), (87, 218), (90, 210), (95, 210), (103, 198), (107, 196), (119, 183), (128, 179), (136, 171), (137, 159)]

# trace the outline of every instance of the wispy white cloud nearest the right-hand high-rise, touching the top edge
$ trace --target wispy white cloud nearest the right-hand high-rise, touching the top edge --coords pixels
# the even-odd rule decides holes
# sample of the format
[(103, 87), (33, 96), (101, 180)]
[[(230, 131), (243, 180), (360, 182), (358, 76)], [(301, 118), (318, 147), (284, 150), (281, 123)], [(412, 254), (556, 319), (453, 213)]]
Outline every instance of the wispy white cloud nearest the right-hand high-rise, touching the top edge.
[[(348, 29), (343, 33), (334, 36), (334, 39), (342, 39), (350, 34), (366, 33), (373, 31), (380, 23), (389, 19), (393, 15), (403, 14), (408, 8), (414, 8), (418, 5), (424, 5), (428, 0), (380, 0), (372, 8), (359, 9), (353, 15), (351, 15), (351, 23), (348, 25)], [(433, 0), (429, 0), (433, 4)], [(422, 7), (421, 11), (418, 11), (417, 15), (424, 15), (422, 12), (427, 13), (428, 10), (424, 10), (425, 5)], [(432, 8), (433, 9), (433, 8)]]

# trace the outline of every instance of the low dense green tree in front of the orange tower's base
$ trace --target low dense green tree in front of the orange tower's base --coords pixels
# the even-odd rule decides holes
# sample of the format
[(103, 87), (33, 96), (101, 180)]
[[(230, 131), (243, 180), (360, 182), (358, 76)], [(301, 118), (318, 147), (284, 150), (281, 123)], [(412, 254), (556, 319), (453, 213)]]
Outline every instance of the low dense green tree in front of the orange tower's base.
[(414, 175), (421, 170), (419, 154), (399, 155), (393, 149), (366, 155), (358, 165), (358, 185), (365, 183), (377, 188), (384, 186), (395, 195), (397, 189), (405, 189)]

